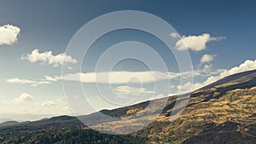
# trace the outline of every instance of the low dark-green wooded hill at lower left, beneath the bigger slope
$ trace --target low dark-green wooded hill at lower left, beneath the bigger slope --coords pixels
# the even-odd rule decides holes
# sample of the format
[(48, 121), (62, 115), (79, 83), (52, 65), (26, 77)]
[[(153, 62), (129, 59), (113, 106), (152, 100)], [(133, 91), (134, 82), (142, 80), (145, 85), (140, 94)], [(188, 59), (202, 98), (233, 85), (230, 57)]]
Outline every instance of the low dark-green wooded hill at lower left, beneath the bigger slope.
[(148, 138), (140, 136), (102, 134), (69, 116), (0, 127), (1, 144), (143, 144), (147, 141)]

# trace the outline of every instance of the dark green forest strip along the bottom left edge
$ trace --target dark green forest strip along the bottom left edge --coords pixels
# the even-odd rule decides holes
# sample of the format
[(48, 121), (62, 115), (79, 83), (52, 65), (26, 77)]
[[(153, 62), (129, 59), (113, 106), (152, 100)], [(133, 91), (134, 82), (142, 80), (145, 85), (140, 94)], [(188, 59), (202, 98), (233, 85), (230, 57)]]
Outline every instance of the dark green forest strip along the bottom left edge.
[(3, 144), (143, 144), (147, 139), (132, 135), (107, 135), (96, 130), (49, 130), (0, 135)]

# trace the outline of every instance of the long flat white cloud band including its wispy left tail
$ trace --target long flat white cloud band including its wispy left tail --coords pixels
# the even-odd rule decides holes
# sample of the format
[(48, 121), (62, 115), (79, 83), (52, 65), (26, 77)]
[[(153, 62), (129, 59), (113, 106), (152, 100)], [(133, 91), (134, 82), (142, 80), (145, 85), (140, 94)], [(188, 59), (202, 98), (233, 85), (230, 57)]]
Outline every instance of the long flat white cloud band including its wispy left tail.
[[(196, 71), (194, 74), (199, 75)], [(179, 78), (180, 76), (183, 78), (190, 78), (192, 76), (192, 72), (77, 72), (68, 73), (63, 76), (44, 76), (44, 78), (37, 80), (9, 78), (6, 82), (13, 84), (31, 84), (33, 87), (36, 87), (40, 84), (52, 84), (53, 82), (58, 82), (60, 80), (97, 84), (150, 84), (156, 81)]]

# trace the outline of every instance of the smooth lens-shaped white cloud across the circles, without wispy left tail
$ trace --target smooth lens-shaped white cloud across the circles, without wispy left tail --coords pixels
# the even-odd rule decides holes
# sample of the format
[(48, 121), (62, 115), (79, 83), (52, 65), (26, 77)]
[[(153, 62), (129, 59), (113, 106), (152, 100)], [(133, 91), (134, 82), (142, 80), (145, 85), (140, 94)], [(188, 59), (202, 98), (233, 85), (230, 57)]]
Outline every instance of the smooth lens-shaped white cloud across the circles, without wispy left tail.
[(82, 83), (98, 84), (137, 84), (153, 83), (154, 81), (177, 78), (178, 73), (167, 72), (88, 72), (70, 73), (63, 76), (63, 80), (80, 81)]

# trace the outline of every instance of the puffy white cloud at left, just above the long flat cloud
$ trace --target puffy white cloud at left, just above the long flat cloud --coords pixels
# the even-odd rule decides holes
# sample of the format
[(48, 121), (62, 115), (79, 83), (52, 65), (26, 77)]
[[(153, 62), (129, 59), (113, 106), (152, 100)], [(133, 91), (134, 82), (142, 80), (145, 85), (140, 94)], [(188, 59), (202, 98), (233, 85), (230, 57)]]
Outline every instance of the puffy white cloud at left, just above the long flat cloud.
[(45, 51), (39, 53), (38, 49), (34, 49), (31, 54), (21, 57), (22, 60), (29, 60), (30, 62), (41, 61), (43, 64), (49, 64), (53, 66), (64, 65), (65, 63), (77, 63), (77, 60), (72, 56), (62, 53), (59, 55), (52, 55), (52, 51)]

